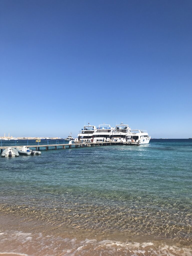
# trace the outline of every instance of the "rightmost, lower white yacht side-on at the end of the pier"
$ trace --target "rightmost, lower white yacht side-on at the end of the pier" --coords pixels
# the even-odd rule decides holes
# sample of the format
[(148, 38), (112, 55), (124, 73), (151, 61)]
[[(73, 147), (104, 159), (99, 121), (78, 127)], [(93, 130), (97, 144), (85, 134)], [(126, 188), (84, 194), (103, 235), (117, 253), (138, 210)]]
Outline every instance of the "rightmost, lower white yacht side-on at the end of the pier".
[(149, 144), (151, 136), (148, 135), (146, 130), (129, 130), (126, 136), (126, 142)]

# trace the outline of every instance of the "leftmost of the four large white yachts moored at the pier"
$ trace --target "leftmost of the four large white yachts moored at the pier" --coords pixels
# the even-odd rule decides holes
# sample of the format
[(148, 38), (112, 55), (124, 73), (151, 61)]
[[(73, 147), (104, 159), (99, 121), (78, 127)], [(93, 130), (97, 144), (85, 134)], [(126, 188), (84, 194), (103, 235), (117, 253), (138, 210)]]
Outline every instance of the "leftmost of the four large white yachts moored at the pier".
[(93, 133), (96, 131), (96, 126), (85, 125), (78, 133), (78, 138), (75, 138), (75, 142), (93, 142)]

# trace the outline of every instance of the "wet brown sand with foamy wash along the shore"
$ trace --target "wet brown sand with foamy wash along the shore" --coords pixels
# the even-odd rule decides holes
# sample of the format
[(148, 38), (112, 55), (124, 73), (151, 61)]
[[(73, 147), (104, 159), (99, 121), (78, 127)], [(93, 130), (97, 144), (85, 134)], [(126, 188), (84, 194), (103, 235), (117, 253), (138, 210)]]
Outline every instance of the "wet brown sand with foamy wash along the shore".
[(0, 256), (190, 256), (192, 249), (168, 239), (125, 237), (59, 228), (0, 215)]

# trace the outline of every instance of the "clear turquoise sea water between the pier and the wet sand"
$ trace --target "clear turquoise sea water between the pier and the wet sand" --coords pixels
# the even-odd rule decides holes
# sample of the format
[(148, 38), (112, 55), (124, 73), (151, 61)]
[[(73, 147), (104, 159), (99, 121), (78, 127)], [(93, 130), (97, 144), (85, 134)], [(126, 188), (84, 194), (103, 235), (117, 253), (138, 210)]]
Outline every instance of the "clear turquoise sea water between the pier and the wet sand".
[(192, 140), (0, 158), (0, 175), (1, 212), (84, 232), (192, 243)]

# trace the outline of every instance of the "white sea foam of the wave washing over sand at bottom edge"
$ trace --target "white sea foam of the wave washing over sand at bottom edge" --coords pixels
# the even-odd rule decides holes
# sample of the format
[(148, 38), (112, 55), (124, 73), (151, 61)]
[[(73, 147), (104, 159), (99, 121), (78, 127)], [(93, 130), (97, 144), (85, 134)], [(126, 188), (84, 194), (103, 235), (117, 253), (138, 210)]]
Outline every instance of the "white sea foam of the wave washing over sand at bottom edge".
[[(30, 236), (29, 236), (30, 235)], [(113, 240), (61, 238), (59, 236), (43, 236), (42, 233), (4, 232), (0, 240), (0, 250), (6, 254), (28, 256), (29, 248), (33, 248), (33, 256), (80, 256), (80, 255), (122, 255), (122, 256), (192, 256), (192, 248), (180, 248), (162, 241), (120, 242)], [(18, 244), (22, 246), (18, 246)], [(1, 254), (5, 252), (1, 252)]]

